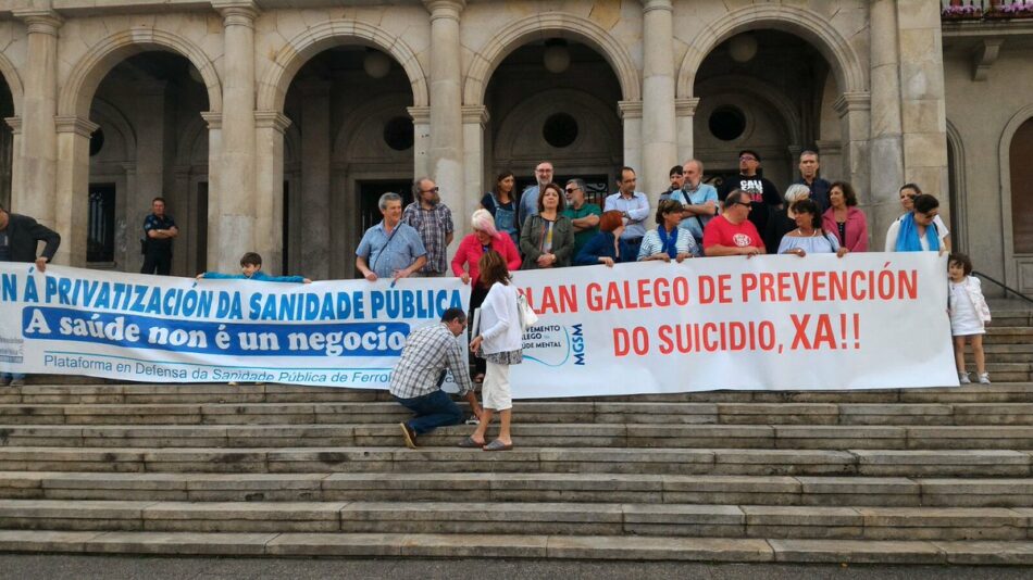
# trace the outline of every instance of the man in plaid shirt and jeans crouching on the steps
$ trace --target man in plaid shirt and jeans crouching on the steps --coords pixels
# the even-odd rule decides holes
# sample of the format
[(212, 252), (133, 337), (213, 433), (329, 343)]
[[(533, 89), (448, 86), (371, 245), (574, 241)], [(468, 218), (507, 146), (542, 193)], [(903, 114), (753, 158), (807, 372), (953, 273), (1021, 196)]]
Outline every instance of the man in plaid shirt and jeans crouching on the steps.
[(396, 401), (416, 415), (399, 424), (409, 449), (416, 449), (418, 436), (463, 421), (462, 409), (441, 390), (448, 370), (452, 371), (459, 384), (459, 394), (465, 396), (474, 415), (481, 417), (466, 353), (456, 340), (465, 328), (466, 314), (462, 308), (448, 308), (441, 315), (440, 324), (418, 328), (406, 340), (401, 358), (391, 373), (390, 392)]

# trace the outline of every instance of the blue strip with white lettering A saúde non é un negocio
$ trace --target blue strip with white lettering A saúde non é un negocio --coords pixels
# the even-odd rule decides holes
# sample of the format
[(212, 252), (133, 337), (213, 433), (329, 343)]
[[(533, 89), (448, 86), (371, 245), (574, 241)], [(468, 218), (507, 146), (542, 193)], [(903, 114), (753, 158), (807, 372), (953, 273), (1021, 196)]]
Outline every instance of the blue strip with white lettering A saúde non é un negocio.
[(25, 339), (236, 356), (399, 356), (406, 323), (248, 325), (26, 307)]

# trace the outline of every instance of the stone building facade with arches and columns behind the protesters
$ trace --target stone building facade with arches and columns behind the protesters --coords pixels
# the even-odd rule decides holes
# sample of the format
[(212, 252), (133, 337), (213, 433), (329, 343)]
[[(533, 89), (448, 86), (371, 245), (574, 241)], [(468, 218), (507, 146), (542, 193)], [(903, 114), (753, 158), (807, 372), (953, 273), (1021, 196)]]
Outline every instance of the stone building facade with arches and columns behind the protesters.
[(270, 270), (339, 278), (378, 193), (415, 176), (436, 179), (466, 230), (497, 173), (526, 181), (543, 159), (600, 194), (633, 166), (655, 198), (692, 156), (720, 179), (756, 149), (784, 188), (817, 149), (824, 176), (859, 191), (876, 245), (898, 187), (917, 181), (979, 269), (1031, 290), (1033, 191), (1011, 176), (1030, 165), (1012, 142), (1033, 147), (1033, 20), (941, 10), (7, 0), (0, 200), (62, 232), (60, 263), (138, 269), (163, 196), (182, 230), (175, 274), (232, 270), (256, 250)]

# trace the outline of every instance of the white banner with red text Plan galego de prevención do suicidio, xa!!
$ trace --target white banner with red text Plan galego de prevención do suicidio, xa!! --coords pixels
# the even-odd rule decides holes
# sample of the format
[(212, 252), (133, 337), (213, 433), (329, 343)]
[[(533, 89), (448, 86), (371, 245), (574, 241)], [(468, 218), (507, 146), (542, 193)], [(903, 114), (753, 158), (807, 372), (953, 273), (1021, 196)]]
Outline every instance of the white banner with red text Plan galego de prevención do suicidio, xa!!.
[(540, 314), (515, 398), (957, 386), (946, 255), (695, 259), (520, 272)]

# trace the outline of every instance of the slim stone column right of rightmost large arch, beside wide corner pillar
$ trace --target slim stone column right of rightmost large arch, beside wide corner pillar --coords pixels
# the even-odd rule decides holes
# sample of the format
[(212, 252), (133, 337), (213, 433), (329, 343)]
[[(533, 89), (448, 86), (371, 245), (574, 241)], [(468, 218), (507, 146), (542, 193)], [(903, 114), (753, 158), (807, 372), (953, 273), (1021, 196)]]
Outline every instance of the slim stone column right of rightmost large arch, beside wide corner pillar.
[[(869, 229), (875, 248), (900, 215), (898, 191), (905, 182), (904, 137), (900, 121), (900, 53), (897, 39), (897, 0), (871, 3), (871, 188), (858, 188), (861, 203), (868, 205)], [(844, 156), (848, 156), (844, 152)]]

